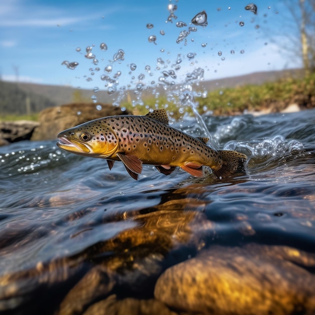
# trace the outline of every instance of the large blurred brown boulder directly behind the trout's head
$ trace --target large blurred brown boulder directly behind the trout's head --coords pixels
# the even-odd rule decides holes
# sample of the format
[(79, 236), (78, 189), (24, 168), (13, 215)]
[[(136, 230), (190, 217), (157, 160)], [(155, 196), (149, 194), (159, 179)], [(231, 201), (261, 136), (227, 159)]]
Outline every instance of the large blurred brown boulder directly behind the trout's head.
[(43, 110), (39, 115), (40, 125), (35, 129), (31, 140), (53, 140), (57, 138), (59, 132), (86, 121), (130, 114), (110, 104), (98, 104), (102, 106), (101, 110), (97, 110), (94, 103), (73, 103)]

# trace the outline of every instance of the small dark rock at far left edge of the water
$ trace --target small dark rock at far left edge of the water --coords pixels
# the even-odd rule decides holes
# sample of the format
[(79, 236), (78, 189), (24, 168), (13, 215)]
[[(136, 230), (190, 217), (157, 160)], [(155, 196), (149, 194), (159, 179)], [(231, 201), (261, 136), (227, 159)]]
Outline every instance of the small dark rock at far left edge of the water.
[(30, 140), (38, 125), (38, 122), (30, 120), (0, 121), (0, 145)]

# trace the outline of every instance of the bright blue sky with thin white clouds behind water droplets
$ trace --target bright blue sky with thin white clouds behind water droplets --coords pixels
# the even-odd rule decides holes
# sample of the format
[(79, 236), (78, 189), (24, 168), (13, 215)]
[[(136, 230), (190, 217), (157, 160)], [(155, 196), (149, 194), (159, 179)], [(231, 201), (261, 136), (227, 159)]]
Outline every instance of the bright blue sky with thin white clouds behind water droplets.
[[(176, 70), (176, 83), (196, 67), (204, 69), (205, 80), (213, 80), (301, 66), (298, 58), (290, 61), (279, 50), (278, 45), (287, 41), (278, 32), (287, 15), (283, 1), (257, 0), (257, 15), (244, 9), (249, 3), (241, 0), (0, 0), (0, 75), (10, 81), (18, 77), (20, 82), (103, 89), (102, 74), (113, 78), (120, 71), (121, 75), (116, 78), (120, 86), (135, 85), (139, 82), (138, 76), (144, 74), (142, 82), (150, 85), (158, 81), (163, 70), (174, 69), (178, 59), (182, 62)], [(178, 7), (173, 23), (166, 23), (169, 4)], [(207, 13), (208, 26), (197, 26), (197, 31), (187, 36), (186, 45), (185, 41), (176, 43), (181, 31), (194, 26), (191, 20), (201, 11)], [(177, 27), (179, 21), (187, 27)], [(243, 27), (239, 25), (241, 21)], [(148, 23), (153, 28), (148, 29)], [(161, 30), (165, 35), (160, 34)], [(156, 36), (156, 45), (148, 41), (150, 35)], [(106, 43), (107, 51), (100, 49), (101, 43)], [(98, 64), (85, 57), (88, 46), (93, 47)], [(76, 51), (78, 47), (80, 52)], [(119, 49), (125, 52), (124, 60), (113, 62)], [(188, 53), (196, 55), (189, 59)], [(165, 63), (157, 64), (157, 58)], [(65, 60), (78, 62), (78, 66), (68, 69), (61, 64)], [(131, 63), (137, 65), (136, 70), (130, 70)], [(107, 65), (112, 66), (111, 73), (104, 71)], [(150, 66), (150, 72), (145, 70), (146, 65)], [(87, 80), (89, 77), (91, 81)]]

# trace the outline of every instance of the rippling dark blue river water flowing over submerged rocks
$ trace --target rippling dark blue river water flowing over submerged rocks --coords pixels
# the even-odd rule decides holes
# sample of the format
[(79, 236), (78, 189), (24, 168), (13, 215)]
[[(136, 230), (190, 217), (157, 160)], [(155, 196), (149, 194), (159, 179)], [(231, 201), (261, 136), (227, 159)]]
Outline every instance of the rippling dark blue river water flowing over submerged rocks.
[(314, 313), (315, 110), (203, 119), (246, 176), (134, 181), (56, 141), (1, 147), (0, 310)]

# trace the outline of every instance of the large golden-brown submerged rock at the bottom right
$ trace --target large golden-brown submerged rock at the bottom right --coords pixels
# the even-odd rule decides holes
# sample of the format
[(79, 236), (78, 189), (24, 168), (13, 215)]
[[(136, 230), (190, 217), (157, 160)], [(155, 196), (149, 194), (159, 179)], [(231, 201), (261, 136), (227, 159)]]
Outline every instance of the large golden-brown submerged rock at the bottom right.
[(313, 314), (315, 256), (282, 246), (214, 246), (167, 269), (156, 299), (201, 314)]

